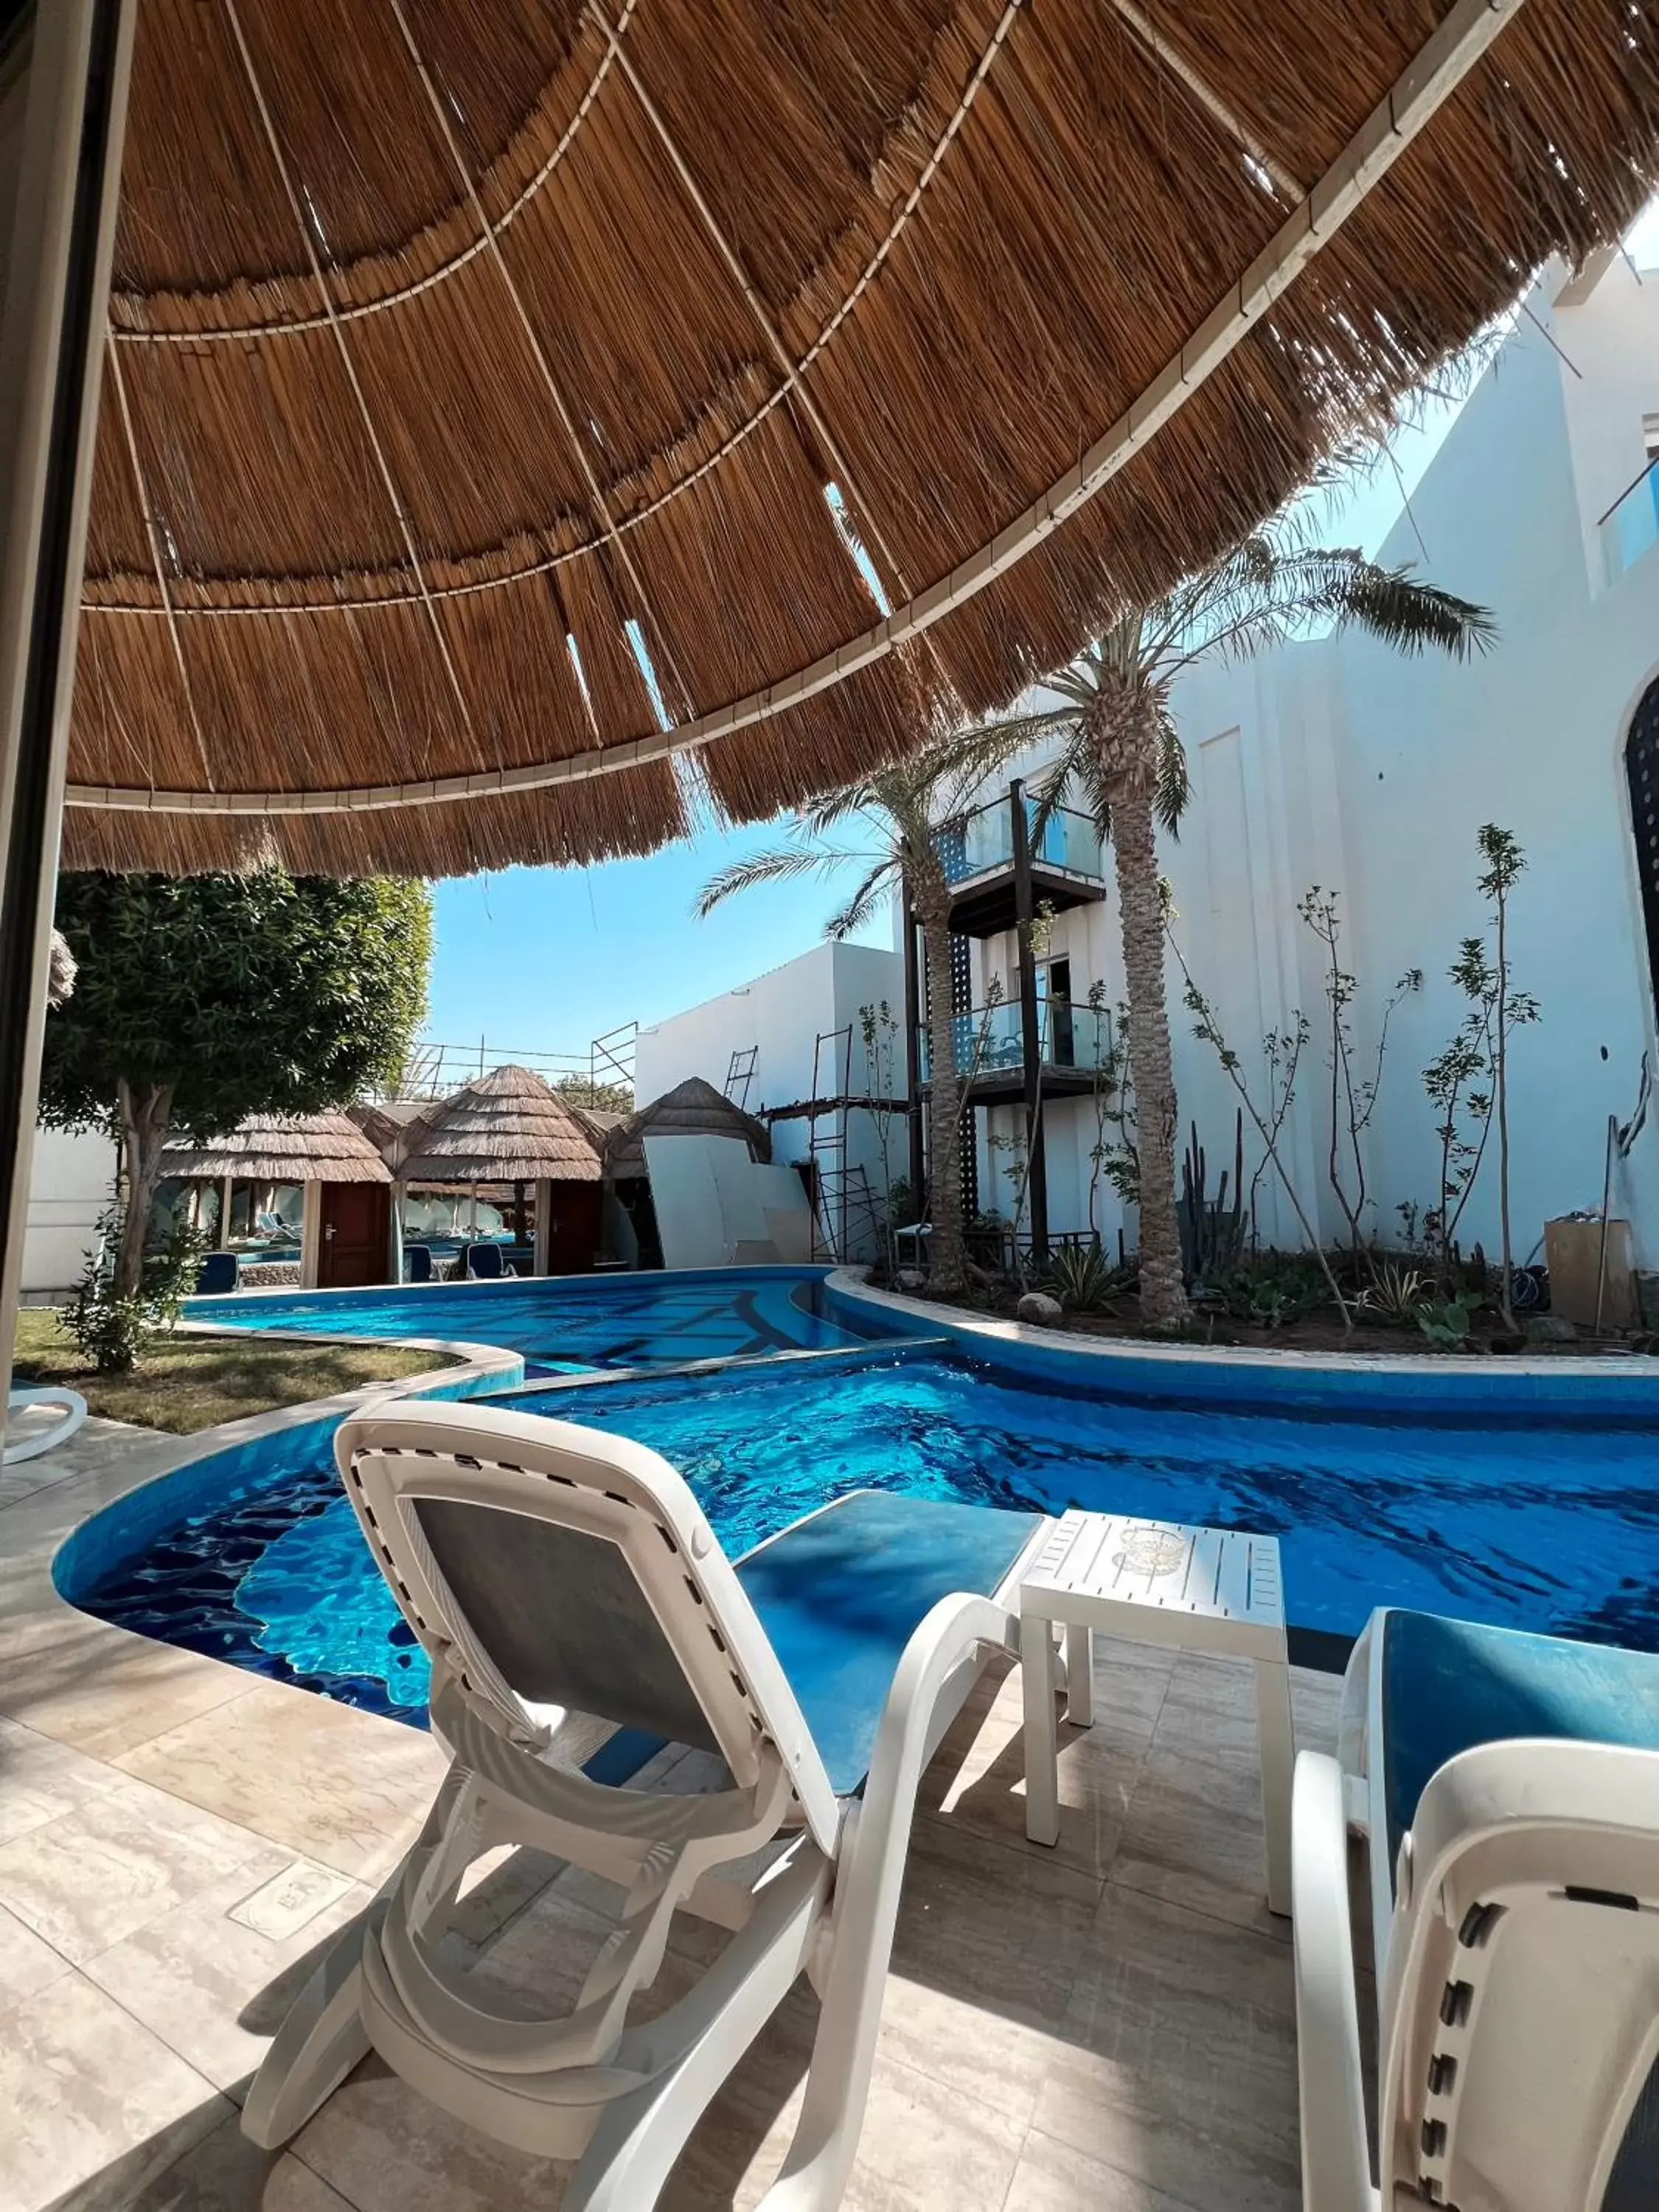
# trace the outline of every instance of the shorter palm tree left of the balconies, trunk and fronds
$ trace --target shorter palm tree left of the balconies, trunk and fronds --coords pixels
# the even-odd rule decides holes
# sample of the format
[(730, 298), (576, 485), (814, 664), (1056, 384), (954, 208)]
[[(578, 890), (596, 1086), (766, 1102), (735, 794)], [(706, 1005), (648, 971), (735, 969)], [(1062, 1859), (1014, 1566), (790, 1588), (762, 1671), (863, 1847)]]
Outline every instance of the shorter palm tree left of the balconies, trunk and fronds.
[[(858, 867), (847, 902), (825, 922), (825, 936), (852, 936), (894, 891), (909, 891), (927, 947), (927, 1208), (929, 1283), (942, 1296), (967, 1285), (962, 1239), (962, 1075), (956, 1064), (951, 1009), (951, 885), (945, 874), (933, 825), (958, 814), (975, 787), (1018, 748), (1002, 723), (929, 739), (898, 768), (883, 768), (856, 783), (825, 792), (799, 816), (792, 843), (734, 860), (703, 885), (695, 911), (708, 916), (721, 900), (759, 883), (801, 876), (838, 876)], [(836, 834), (867, 832), (865, 843), (843, 843)], [(920, 1192), (916, 1192), (920, 1199)]]

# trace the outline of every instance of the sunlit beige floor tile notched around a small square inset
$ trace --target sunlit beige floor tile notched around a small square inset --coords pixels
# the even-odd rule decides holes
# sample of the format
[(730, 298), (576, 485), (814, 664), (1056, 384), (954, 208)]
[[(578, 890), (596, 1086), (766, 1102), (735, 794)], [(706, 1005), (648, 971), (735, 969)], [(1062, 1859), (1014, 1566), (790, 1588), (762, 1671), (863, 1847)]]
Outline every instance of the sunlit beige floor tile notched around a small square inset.
[(88, 1980), (234, 2097), (246, 2090), (312, 1969), (372, 1896), (363, 1882), (352, 1882), (283, 1940), (232, 1918), (243, 1898), (292, 1867), (290, 1851), (265, 1847), (84, 1966)]

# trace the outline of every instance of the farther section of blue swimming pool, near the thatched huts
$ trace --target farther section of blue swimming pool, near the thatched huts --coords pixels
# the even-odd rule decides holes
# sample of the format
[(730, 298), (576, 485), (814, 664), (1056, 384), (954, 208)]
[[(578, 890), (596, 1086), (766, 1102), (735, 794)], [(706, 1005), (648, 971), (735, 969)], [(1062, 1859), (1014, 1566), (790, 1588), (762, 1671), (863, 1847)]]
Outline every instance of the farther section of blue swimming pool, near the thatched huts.
[(387, 1290), (190, 1298), (212, 1329), (314, 1336), (422, 1336), (502, 1345), (531, 1369), (664, 1367), (858, 1345), (869, 1329), (832, 1321), (827, 1267), (706, 1267), (686, 1274), (531, 1276)]

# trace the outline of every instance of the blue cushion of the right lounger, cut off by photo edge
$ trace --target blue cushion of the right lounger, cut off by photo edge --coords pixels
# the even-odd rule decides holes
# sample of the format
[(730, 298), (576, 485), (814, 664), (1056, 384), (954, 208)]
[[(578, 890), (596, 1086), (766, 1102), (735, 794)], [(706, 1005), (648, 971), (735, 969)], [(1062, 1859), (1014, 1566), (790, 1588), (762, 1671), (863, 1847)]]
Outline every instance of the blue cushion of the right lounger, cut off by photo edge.
[(1659, 1750), (1659, 1652), (1389, 1610), (1374, 1663), (1383, 1668), (1389, 1865), (1429, 1776), (1478, 1743), (1557, 1736)]

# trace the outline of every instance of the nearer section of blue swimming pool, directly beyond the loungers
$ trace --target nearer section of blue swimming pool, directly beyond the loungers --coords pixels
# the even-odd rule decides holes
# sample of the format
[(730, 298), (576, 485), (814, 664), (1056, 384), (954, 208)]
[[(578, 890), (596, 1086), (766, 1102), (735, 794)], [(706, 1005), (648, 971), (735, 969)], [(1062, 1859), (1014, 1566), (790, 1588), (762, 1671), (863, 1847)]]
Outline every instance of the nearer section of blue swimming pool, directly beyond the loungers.
[[(1091, 1371), (1057, 1387), (1062, 1365)], [(1659, 1650), (1659, 1405), (1644, 1389), (1608, 1383), (1588, 1420), (1571, 1376), (1498, 1371), (1471, 1378), (1482, 1387), (1462, 1398), (1451, 1378), (1427, 1376), (1416, 1391), (1396, 1383), (1391, 1411), (1376, 1402), (1387, 1380), (1234, 1369), (1228, 1385), (1217, 1363), (1113, 1369), (1046, 1352), (1022, 1367), (1011, 1354), (991, 1365), (865, 1347), (701, 1376), (529, 1385), (491, 1402), (661, 1451), (730, 1553), (860, 1486), (1082, 1504), (1279, 1535), (1303, 1661), (1340, 1663), (1376, 1604)], [(150, 1504), (148, 1533), (106, 1544), (95, 1573), (60, 1555), (64, 1595), (418, 1719), (425, 1659), (338, 1491), (327, 1427), (307, 1458), (290, 1447), (283, 1469), (243, 1480), (234, 1498), (215, 1495), (212, 1462), (184, 1475), (170, 1526)]]

